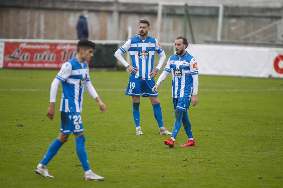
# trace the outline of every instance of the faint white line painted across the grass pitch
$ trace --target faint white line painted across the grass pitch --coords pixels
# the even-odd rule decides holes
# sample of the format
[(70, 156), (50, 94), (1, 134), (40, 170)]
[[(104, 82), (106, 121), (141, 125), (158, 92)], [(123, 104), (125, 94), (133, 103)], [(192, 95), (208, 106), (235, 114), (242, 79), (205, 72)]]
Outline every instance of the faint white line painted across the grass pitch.
[[(62, 89), (58, 89), (62, 91)], [(126, 89), (95, 89), (96, 91), (126, 91)], [(0, 91), (50, 91), (50, 89), (0, 89)], [(158, 91), (171, 91), (171, 89), (159, 89)], [(283, 91), (283, 88), (266, 88), (266, 89), (199, 89), (198, 91)]]

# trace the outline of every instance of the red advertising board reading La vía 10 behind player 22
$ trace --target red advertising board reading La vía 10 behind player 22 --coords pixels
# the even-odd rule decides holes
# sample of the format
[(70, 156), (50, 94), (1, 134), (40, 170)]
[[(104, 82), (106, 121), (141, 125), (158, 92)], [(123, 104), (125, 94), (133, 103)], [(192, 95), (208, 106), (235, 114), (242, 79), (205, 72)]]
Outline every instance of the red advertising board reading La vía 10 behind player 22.
[(60, 69), (76, 51), (70, 43), (5, 42), (3, 68)]

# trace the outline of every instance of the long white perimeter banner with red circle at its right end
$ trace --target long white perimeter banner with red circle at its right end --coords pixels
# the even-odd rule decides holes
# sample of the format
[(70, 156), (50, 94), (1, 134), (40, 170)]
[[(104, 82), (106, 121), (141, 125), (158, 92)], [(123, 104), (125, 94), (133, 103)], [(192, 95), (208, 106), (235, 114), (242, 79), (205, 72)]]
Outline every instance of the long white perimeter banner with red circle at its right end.
[(199, 74), (283, 78), (283, 49), (190, 44)]

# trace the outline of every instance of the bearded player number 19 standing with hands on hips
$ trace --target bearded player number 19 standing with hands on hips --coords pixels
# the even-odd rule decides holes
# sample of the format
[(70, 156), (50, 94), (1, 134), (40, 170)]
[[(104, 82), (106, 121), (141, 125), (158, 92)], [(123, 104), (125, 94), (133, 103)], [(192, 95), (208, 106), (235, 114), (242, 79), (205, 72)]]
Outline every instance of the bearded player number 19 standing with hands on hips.
[[(158, 41), (148, 36), (149, 22), (141, 20), (139, 26), (139, 34), (130, 38), (123, 46), (116, 52), (115, 57), (130, 71), (130, 78), (126, 95), (132, 96), (133, 99), (133, 117), (136, 124), (136, 135), (142, 135), (140, 126), (140, 96), (149, 97), (153, 106), (154, 117), (157, 120), (160, 135), (171, 135), (167, 129), (164, 128), (163, 117), (160, 103), (158, 100), (158, 93), (152, 92), (152, 87), (155, 85), (154, 77), (157, 75), (161, 66), (163, 65), (166, 55), (160, 47)], [(122, 54), (129, 52), (132, 59), (132, 65), (129, 65)], [(158, 65), (153, 69), (154, 51), (160, 56)]]

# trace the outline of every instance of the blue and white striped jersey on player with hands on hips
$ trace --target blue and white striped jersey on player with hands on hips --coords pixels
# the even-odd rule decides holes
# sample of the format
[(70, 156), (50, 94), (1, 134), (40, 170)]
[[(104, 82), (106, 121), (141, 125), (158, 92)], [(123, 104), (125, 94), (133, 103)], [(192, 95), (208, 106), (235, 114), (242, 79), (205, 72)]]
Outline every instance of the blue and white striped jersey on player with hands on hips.
[(131, 74), (135, 78), (142, 80), (151, 80), (149, 74), (153, 70), (154, 51), (160, 54), (163, 49), (158, 41), (150, 36), (143, 42), (139, 34), (130, 38), (123, 46), (119, 48), (123, 53), (129, 51), (132, 59), (132, 66), (138, 68), (136, 74)]

